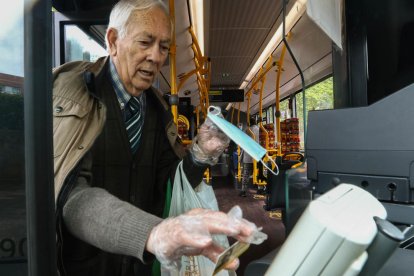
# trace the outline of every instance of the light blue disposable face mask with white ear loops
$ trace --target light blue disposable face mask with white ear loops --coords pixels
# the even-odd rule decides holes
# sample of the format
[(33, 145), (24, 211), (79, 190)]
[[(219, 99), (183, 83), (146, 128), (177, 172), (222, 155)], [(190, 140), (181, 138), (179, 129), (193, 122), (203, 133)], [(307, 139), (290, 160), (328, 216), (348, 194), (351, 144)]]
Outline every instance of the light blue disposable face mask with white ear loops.
[[(254, 139), (249, 135), (241, 131), (238, 127), (234, 126), (227, 120), (220, 117), (221, 110), (218, 107), (210, 106), (207, 117), (221, 130), (223, 131), (231, 140), (239, 145), (245, 152), (247, 152), (253, 159), (257, 162), (261, 162), (270, 172), (274, 175), (279, 174), (279, 168), (275, 161), (267, 155), (267, 150), (258, 144)], [(262, 158), (267, 155), (268, 159), (275, 165), (276, 172), (270, 169), (262, 160)]]

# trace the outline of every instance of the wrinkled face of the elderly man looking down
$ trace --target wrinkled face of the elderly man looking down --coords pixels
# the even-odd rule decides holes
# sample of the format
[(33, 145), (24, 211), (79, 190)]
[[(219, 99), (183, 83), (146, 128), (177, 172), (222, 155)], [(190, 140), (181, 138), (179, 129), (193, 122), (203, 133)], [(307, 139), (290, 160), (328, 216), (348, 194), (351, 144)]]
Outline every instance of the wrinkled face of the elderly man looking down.
[[(171, 42), (171, 25), (167, 15), (157, 7), (131, 14), (124, 38), (108, 31), (109, 54), (112, 56), (125, 89), (138, 96), (148, 89), (165, 59)], [(111, 38), (113, 37), (113, 38)]]

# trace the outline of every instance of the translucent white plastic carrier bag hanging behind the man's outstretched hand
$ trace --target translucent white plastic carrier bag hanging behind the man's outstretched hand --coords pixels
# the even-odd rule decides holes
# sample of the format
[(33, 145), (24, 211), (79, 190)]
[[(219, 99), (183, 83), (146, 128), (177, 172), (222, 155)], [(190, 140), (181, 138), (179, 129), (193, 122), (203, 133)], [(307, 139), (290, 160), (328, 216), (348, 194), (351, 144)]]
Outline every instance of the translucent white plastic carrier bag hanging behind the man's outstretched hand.
[[(194, 208), (218, 211), (217, 199), (213, 188), (204, 182), (201, 182), (195, 191), (184, 174), (182, 162), (180, 162), (175, 173), (169, 216), (178, 216)], [(215, 235), (213, 240), (221, 247), (229, 247), (227, 237), (224, 235)], [(166, 271), (161, 268), (161, 275), (210, 276), (213, 275), (214, 268), (215, 264), (207, 257), (183, 256), (179, 272)], [(229, 276), (229, 272), (222, 270), (217, 275)]]

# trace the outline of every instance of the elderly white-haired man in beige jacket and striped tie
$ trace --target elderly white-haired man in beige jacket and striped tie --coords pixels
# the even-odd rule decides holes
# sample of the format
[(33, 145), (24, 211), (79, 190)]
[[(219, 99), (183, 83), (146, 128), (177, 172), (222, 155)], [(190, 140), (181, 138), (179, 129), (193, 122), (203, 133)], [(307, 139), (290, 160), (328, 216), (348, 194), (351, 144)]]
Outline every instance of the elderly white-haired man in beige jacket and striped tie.
[[(151, 87), (171, 39), (160, 0), (121, 0), (106, 32), (108, 57), (53, 72), (54, 165), (61, 275), (150, 275), (154, 255), (174, 260), (223, 251), (210, 234), (247, 239), (254, 227), (196, 209), (162, 220), (176, 168), (193, 186), (228, 145), (208, 125), (189, 152), (162, 94)], [(194, 233), (197, 222), (208, 235)], [(227, 268), (235, 269), (237, 261)]]

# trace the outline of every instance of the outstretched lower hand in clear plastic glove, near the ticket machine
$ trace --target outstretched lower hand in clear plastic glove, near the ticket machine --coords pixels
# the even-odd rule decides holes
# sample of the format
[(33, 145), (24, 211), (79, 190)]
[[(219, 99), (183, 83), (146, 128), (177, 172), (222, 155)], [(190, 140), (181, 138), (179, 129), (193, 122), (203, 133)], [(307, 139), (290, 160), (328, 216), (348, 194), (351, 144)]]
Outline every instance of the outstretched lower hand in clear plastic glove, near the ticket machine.
[[(214, 244), (212, 235), (224, 234), (247, 243), (260, 244), (267, 235), (254, 223), (242, 217), (240, 207), (228, 214), (208, 209), (193, 209), (183, 215), (168, 218), (154, 227), (147, 241), (147, 251), (153, 253), (167, 269), (180, 267), (181, 256), (203, 255), (216, 262), (224, 248)], [(236, 270), (239, 260), (227, 265)]]

